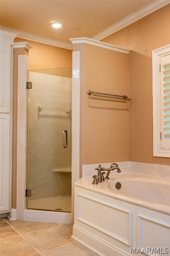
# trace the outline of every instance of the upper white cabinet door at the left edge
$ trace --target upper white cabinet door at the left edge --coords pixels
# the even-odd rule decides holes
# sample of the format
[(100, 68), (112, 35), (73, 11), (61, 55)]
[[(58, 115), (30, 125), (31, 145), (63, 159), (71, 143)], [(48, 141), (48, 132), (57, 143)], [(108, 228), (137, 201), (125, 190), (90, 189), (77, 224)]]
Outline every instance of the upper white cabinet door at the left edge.
[[(1, 39), (0, 60), (0, 112), (10, 113), (10, 87), (11, 87), (11, 44)], [(11, 40), (11, 39), (10, 39)], [(7, 41), (7, 39), (6, 39)]]

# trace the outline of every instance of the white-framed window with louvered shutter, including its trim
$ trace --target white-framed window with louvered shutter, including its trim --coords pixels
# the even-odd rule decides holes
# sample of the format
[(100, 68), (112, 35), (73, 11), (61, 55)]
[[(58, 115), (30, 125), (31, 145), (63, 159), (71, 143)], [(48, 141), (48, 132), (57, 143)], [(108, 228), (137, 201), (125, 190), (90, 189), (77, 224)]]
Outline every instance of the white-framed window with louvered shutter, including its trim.
[(170, 157), (170, 45), (152, 51), (153, 156)]

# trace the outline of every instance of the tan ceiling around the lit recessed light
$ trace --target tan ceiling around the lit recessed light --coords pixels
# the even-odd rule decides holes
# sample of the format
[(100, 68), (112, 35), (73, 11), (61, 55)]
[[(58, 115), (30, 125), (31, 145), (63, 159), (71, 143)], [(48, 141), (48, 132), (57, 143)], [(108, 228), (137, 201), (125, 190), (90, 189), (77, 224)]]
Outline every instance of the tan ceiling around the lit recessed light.
[[(79, 37), (99, 40), (109, 35), (108, 29), (111, 34), (115, 24), (160, 2), (169, 0), (1, 0), (0, 25), (66, 43)], [(54, 29), (52, 21), (63, 26)]]

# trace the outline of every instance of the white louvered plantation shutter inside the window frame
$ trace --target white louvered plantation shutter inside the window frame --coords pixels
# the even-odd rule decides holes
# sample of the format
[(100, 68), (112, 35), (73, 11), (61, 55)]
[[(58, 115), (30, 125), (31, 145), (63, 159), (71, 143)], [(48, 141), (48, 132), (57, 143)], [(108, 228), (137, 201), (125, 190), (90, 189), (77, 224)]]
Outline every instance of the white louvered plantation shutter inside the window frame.
[(170, 54), (160, 57), (161, 148), (170, 148)]

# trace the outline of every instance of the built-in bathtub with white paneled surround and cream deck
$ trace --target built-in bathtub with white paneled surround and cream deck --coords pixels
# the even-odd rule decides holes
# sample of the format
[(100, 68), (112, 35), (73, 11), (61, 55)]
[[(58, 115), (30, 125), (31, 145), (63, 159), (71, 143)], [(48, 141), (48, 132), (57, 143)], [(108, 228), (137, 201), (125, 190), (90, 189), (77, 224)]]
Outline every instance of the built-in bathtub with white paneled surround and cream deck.
[(131, 172), (109, 178), (75, 183), (72, 238), (102, 256), (136, 255), (142, 248), (146, 255), (170, 255), (170, 179)]

